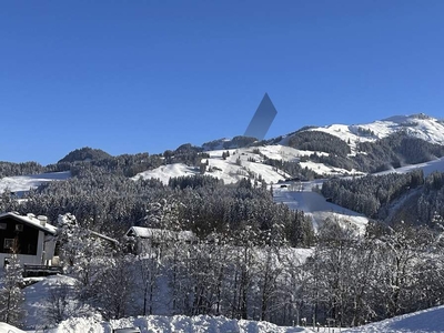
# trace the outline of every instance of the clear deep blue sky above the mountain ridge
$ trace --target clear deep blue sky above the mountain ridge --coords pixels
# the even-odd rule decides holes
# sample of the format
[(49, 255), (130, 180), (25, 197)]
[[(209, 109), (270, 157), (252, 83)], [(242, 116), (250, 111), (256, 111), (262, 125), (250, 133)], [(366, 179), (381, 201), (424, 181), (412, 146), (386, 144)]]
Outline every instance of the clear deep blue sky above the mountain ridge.
[(0, 160), (444, 117), (444, 1), (2, 1)]

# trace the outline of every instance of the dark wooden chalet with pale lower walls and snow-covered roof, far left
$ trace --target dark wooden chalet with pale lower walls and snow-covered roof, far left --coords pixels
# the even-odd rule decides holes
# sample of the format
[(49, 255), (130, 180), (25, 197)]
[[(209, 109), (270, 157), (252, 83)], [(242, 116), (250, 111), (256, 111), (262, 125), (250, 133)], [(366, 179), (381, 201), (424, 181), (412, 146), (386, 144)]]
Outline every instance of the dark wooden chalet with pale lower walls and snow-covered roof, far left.
[(17, 253), (21, 264), (51, 265), (56, 251), (57, 228), (47, 216), (0, 214), (0, 264)]

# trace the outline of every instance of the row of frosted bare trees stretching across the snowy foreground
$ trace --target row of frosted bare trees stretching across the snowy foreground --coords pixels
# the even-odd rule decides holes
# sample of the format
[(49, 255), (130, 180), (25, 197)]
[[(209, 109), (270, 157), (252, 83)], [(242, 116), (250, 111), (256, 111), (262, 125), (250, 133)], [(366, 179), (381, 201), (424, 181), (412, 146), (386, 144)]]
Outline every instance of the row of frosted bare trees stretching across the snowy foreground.
[[(159, 204), (147, 220), (172, 229), (175, 210), (175, 204)], [(349, 221), (331, 218), (306, 250), (245, 226), (191, 243), (165, 238), (131, 253), (131, 238), (110, 246), (91, 239), (73, 215), (58, 221), (61, 260), (77, 284), (48, 295), (44, 320), (51, 325), (89, 312), (107, 321), (208, 314), (344, 327), (444, 302), (442, 229), (371, 222), (360, 234)], [(20, 302), (13, 304), (19, 309)]]

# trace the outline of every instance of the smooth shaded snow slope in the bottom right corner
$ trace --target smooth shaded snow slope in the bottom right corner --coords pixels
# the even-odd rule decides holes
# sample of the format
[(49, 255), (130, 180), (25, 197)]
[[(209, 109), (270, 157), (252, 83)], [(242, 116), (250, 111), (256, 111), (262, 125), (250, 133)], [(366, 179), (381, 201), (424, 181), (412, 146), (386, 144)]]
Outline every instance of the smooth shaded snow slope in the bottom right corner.
[(395, 316), (377, 323), (344, 330), (347, 333), (432, 333), (444, 332), (444, 306)]

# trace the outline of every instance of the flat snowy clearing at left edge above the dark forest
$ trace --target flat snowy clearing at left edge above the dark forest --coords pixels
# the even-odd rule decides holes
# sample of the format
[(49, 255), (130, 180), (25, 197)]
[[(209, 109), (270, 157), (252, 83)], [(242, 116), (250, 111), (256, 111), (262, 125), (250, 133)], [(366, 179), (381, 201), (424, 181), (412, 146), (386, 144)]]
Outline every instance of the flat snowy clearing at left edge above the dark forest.
[(36, 189), (43, 183), (67, 180), (71, 176), (71, 172), (48, 172), (40, 174), (31, 174), (31, 175), (16, 175), (16, 176), (6, 176), (0, 179), (0, 193), (4, 190), (9, 190), (11, 192), (20, 193), (27, 192), (30, 189)]

